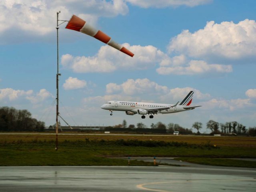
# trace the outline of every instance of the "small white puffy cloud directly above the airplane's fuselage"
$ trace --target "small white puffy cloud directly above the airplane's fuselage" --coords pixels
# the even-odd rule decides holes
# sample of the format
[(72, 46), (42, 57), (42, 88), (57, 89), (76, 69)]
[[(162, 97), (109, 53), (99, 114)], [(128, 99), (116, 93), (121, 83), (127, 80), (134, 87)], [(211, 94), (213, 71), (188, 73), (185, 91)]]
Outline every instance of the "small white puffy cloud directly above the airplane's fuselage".
[(107, 93), (122, 92), (127, 95), (139, 95), (145, 93), (164, 94), (168, 91), (169, 89), (166, 86), (158, 85), (156, 82), (150, 81), (147, 78), (136, 80), (128, 79), (120, 85), (115, 83), (106, 85)]

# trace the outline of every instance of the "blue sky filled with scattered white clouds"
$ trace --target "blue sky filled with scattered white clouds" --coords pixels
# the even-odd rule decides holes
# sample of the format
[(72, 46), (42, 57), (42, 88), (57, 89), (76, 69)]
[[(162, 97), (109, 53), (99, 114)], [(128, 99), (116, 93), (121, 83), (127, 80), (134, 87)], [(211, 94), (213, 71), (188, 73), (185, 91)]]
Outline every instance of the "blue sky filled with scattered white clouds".
[[(75, 14), (134, 53), (60, 25), (60, 115), (70, 125), (256, 126), (255, 10), (254, 0), (2, 0), (0, 106), (55, 123), (61, 11), (60, 20)], [(109, 100), (175, 104), (190, 90), (202, 107), (153, 119), (100, 108)]]

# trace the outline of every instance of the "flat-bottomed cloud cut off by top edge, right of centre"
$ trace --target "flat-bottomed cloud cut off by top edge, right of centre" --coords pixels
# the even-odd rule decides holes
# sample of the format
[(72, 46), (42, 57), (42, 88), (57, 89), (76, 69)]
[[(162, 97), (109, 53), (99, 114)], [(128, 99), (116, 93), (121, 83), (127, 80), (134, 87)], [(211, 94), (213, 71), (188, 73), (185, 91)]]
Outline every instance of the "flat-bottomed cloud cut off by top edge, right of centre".
[(211, 2), (212, 0), (125, 0), (132, 5), (140, 6), (142, 8), (156, 7), (177, 7), (177, 6), (189, 6), (194, 7)]

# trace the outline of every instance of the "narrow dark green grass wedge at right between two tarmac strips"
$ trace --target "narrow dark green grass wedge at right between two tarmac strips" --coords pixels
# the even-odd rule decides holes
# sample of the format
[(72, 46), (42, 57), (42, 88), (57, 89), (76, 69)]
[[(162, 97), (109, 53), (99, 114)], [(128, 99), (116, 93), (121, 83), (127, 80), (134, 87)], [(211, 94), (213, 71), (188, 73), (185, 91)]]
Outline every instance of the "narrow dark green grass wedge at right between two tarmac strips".
[(176, 160), (186, 161), (202, 165), (226, 166), (226, 167), (249, 167), (256, 168), (256, 161), (225, 159), (225, 158), (175, 158)]

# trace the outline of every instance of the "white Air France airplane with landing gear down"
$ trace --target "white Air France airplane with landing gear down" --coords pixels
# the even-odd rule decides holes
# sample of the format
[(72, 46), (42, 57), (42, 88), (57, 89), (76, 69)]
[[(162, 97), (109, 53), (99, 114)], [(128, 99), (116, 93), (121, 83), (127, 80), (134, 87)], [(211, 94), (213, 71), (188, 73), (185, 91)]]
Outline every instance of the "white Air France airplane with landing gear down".
[(125, 111), (126, 115), (140, 114), (141, 118), (146, 118), (145, 115), (149, 114), (149, 118), (154, 118), (154, 114), (168, 114), (177, 113), (187, 110), (192, 110), (196, 107), (201, 106), (190, 106), (192, 103), (194, 91), (190, 91), (188, 95), (178, 105), (177, 102), (173, 104), (161, 104), (161, 103), (146, 103), (146, 102), (128, 102), (128, 101), (108, 101), (103, 104), (100, 108), (109, 110), (112, 116), (113, 111)]

